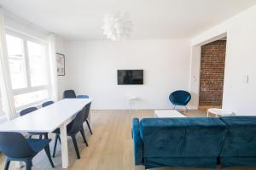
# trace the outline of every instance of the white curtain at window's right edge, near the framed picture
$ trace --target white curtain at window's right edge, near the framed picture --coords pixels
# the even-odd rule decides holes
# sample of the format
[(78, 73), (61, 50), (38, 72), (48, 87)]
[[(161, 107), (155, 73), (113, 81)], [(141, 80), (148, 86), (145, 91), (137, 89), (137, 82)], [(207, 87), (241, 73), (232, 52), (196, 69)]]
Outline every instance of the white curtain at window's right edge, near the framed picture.
[(58, 82), (55, 50), (55, 34), (49, 34), (49, 70), (50, 70), (50, 91), (53, 100), (58, 100)]

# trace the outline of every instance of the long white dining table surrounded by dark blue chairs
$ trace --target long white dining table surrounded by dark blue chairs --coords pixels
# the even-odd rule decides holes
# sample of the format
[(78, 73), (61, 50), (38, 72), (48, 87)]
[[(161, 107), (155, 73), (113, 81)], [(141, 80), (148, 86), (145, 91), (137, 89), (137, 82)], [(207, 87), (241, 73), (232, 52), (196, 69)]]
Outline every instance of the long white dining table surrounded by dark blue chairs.
[[(73, 120), (84, 105), (93, 99), (61, 99), (52, 105), (32, 111), (25, 116), (19, 116), (0, 125), (0, 132), (40, 132), (51, 133), (56, 128), (61, 129), (61, 160), (62, 167), (68, 167), (67, 124)], [(89, 120), (90, 122), (90, 120)]]

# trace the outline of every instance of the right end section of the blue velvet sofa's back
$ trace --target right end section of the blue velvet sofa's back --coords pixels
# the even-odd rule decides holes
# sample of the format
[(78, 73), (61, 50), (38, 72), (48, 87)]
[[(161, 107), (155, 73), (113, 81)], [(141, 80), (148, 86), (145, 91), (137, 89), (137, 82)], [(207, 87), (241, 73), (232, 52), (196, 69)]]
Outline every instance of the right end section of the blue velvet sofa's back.
[(227, 126), (221, 156), (256, 156), (256, 116), (224, 116)]

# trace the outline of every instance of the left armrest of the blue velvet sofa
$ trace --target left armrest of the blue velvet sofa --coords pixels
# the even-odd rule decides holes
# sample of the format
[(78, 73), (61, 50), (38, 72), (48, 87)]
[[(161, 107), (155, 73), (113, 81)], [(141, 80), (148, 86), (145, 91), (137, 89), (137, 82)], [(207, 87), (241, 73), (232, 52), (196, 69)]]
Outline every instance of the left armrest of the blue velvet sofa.
[(143, 140), (140, 135), (139, 119), (132, 119), (132, 138), (135, 165), (143, 165)]

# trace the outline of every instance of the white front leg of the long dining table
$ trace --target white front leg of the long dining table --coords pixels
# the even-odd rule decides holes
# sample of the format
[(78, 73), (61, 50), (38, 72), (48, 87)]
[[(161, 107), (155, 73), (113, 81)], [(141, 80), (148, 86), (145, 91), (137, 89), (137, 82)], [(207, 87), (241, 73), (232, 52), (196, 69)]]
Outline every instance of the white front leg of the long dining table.
[(68, 167), (68, 150), (67, 150), (67, 123), (63, 123), (61, 129), (61, 160), (62, 168)]

